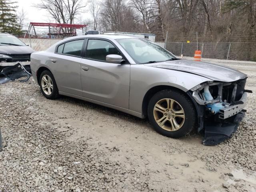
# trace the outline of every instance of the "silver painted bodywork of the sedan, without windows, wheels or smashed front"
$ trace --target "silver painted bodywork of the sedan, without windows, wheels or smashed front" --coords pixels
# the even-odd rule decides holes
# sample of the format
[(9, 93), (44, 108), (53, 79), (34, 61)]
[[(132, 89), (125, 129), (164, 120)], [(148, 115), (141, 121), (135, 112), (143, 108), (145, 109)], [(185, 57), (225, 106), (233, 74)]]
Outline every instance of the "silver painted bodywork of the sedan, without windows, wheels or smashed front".
[[(112, 64), (54, 53), (57, 45), (78, 38), (107, 39), (120, 49), (130, 64)], [(37, 82), (37, 70), (40, 67), (46, 67), (54, 75), (60, 94), (143, 118), (142, 102), (151, 88), (164, 85), (187, 92), (206, 81), (229, 82), (246, 76), (231, 68), (186, 60), (136, 64), (116, 41), (116, 39), (122, 38), (137, 37), (122, 35), (76, 36), (61, 40), (44, 52), (33, 53), (31, 55), (31, 71), (34, 80)], [(57, 61), (53, 63), (51, 60)], [(88, 70), (84, 71), (82, 67), (86, 67)], [(218, 76), (214, 78), (216, 72), (213, 70), (220, 69), (228, 75), (225, 76), (218, 72)], [(232, 76), (234, 76), (233, 79)]]

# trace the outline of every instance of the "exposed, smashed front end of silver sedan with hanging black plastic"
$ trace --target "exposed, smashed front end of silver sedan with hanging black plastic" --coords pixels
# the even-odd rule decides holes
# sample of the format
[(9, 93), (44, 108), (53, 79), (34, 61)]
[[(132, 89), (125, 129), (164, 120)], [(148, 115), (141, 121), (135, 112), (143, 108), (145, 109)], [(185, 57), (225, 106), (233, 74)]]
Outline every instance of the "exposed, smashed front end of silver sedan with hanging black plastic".
[(198, 106), (198, 132), (205, 130), (204, 145), (229, 138), (245, 115), (246, 78), (235, 82), (204, 82), (191, 89)]

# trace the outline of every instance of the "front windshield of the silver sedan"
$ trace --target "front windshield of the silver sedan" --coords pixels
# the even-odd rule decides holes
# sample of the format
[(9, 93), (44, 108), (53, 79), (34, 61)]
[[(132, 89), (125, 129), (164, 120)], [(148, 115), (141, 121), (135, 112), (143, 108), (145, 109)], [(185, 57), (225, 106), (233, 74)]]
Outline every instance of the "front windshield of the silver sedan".
[(117, 39), (118, 43), (126, 50), (136, 64), (147, 62), (163, 62), (176, 58), (164, 48), (146, 39)]

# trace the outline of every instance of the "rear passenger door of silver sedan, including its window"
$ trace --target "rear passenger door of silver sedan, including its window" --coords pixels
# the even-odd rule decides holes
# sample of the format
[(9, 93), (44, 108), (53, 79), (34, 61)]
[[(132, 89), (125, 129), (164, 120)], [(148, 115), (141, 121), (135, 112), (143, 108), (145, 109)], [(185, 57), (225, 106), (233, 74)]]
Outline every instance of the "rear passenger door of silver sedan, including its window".
[(56, 47), (52, 69), (59, 91), (82, 96), (80, 61), (85, 39), (75, 39)]

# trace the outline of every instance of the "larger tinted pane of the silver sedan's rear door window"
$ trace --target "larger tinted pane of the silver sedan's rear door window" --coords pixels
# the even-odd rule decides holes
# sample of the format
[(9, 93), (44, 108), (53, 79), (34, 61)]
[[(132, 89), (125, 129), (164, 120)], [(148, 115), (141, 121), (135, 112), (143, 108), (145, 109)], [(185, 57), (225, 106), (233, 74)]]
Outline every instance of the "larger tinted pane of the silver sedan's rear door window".
[(83, 39), (66, 42), (64, 45), (63, 53), (68, 55), (81, 56), (83, 43)]

